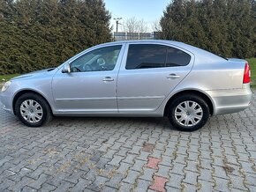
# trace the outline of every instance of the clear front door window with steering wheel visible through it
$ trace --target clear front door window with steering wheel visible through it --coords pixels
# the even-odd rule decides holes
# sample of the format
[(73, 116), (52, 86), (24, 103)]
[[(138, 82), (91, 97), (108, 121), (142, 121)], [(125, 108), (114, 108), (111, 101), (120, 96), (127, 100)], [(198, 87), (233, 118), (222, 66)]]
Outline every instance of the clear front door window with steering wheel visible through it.
[(72, 72), (114, 70), (122, 45), (97, 48), (71, 63)]

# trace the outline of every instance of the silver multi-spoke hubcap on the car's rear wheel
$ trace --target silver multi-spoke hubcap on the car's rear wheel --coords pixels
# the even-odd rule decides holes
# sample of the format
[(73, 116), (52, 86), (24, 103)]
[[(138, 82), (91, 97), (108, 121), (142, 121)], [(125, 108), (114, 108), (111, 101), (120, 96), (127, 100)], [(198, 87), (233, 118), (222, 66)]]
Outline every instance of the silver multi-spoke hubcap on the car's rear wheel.
[(203, 109), (195, 101), (187, 100), (180, 103), (175, 109), (175, 119), (185, 127), (198, 124), (203, 118)]

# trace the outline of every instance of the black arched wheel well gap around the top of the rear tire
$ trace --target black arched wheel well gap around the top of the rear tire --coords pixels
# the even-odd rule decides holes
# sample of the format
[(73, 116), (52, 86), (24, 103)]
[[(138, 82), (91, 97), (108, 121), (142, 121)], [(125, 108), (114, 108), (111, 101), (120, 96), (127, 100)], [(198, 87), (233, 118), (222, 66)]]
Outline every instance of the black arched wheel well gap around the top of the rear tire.
[(196, 95), (199, 95), (203, 100), (207, 102), (207, 106), (209, 107), (210, 114), (215, 114), (215, 104), (214, 101), (210, 99), (210, 97), (205, 92), (200, 92), (199, 90), (183, 90), (181, 92), (176, 92), (174, 95), (172, 95), (169, 100), (167, 101), (165, 107), (164, 107), (164, 116), (167, 116), (169, 111), (169, 106), (172, 100), (176, 99), (180, 95), (184, 94), (190, 94), (194, 93)]

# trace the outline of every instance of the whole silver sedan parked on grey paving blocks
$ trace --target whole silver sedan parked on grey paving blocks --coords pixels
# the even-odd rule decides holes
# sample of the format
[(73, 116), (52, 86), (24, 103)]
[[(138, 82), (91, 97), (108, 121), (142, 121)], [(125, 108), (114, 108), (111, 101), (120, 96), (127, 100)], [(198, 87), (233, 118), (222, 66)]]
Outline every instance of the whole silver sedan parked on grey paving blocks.
[(31, 127), (53, 115), (167, 116), (173, 127), (189, 131), (210, 115), (244, 110), (251, 99), (245, 60), (177, 41), (98, 45), (55, 69), (12, 78), (0, 93), (4, 109)]

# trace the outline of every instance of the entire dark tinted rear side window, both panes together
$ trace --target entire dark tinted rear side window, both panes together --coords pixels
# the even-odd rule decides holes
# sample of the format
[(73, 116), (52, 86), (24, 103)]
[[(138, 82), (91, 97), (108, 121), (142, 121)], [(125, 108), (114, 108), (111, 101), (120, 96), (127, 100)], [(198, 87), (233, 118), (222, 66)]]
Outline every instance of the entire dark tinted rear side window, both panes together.
[(190, 63), (191, 56), (177, 48), (154, 44), (129, 46), (125, 69), (177, 67)]

